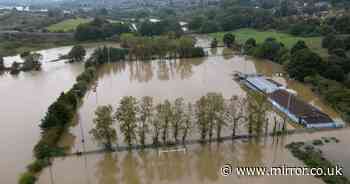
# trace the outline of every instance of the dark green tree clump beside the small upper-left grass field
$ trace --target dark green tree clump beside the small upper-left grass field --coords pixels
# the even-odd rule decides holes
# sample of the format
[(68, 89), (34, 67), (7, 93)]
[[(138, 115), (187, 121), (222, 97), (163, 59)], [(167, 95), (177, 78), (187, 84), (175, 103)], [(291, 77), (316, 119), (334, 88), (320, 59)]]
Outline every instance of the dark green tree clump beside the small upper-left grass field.
[(95, 18), (92, 22), (81, 24), (75, 31), (75, 39), (78, 41), (101, 40), (131, 32), (127, 23), (111, 23), (108, 20)]

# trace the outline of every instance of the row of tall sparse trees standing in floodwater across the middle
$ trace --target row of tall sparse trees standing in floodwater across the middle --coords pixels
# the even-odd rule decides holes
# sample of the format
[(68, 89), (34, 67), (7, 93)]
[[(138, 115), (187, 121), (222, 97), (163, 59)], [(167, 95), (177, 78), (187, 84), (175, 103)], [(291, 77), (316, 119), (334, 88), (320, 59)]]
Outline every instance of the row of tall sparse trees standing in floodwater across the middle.
[[(138, 101), (127, 96), (121, 99), (115, 112), (111, 105), (98, 107), (90, 133), (108, 150), (117, 142), (117, 132), (129, 147), (133, 144), (144, 147), (147, 140), (155, 146), (186, 143), (190, 135), (202, 142), (221, 141), (226, 128), (234, 138), (242, 124), (249, 135), (268, 133), (270, 110), (266, 96), (257, 94), (225, 100), (221, 94), (208, 93), (195, 103), (177, 98), (174, 102), (165, 100), (159, 104), (155, 104), (152, 97)], [(116, 122), (120, 131), (114, 128)], [(275, 123), (278, 123), (276, 119)], [(199, 137), (195, 136), (194, 128)]]

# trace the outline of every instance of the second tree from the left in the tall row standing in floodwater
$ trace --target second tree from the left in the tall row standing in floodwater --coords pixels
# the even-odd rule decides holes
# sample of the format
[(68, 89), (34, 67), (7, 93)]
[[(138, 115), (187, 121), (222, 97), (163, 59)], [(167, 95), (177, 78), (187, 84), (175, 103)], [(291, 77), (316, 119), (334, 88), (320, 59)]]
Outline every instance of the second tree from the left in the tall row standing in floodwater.
[(115, 113), (115, 117), (120, 125), (120, 131), (124, 134), (124, 140), (129, 146), (131, 146), (136, 140), (137, 111), (138, 107), (136, 98), (126, 96), (121, 99), (119, 107)]

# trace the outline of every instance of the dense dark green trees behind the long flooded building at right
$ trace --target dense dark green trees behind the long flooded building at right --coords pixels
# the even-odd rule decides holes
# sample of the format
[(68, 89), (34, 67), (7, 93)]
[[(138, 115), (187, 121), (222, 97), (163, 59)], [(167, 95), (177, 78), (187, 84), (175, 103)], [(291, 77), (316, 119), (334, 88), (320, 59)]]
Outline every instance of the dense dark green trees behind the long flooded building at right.
[[(336, 39), (329, 41), (336, 42)], [(290, 78), (312, 84), (314, 91), (339, 111), (344, 120), (350, 120), (350, 58), (344, 49), (330, 49), (329, 57), (321, 58), (304, 41), (298, 41), (289, 50), (273, 38), (261, 44), (251, 38), (246, 41), (244, 51), (283, 64)]]

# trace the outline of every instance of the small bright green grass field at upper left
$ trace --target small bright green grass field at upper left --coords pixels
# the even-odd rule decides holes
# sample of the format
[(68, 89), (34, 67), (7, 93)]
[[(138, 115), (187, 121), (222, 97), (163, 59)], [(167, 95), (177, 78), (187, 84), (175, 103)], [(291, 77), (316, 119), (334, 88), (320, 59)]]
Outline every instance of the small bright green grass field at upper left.
[(79, 24), (88, 23), (90, 21), (91, 21), (91, 19), (84, 19), (84, 18), (68, 19), (68, 20), (64, 20), (62, 22), (59, 22), (57, 24), (50, 25), (49, 27), (47, 27), (47, 30), (49, 30), (50, 32), (74, 31), (78, 27)]

